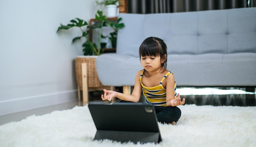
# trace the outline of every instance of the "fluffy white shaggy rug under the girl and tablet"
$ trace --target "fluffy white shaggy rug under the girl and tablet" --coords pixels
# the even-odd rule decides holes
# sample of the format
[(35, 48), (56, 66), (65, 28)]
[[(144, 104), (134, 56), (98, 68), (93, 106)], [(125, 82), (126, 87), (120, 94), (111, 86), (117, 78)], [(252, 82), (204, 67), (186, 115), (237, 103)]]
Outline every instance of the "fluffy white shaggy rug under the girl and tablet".
[(0, 126), (1, 147), (256, 147), (256, 107), (179, 106), (176, 125), (159, 124), (159, 144), (93, 141), (88, 105)]

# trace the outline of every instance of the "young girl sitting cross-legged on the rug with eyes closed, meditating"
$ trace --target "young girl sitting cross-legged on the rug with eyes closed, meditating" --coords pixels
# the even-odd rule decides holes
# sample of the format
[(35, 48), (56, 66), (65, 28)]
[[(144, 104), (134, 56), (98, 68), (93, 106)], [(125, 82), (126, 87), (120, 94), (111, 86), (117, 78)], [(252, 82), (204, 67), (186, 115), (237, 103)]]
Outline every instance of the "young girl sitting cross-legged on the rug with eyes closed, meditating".
[(166, 69), (166, 44), (157, 37), (146, 38), (139, 47), (139, 55), (144, 69), (136, 74), (132, 94), (103, 89), (101, 99), (111, 101), (117, 97), (122, 101), (138, 102), (142, 92), (146, 102), (154, 105), (157, 120), (174, 124), (181, 116), (181, 111), (176, 106), (183, 105), (185, 98), (181, 101), (180, 94), (176, 93), (174, 75)]

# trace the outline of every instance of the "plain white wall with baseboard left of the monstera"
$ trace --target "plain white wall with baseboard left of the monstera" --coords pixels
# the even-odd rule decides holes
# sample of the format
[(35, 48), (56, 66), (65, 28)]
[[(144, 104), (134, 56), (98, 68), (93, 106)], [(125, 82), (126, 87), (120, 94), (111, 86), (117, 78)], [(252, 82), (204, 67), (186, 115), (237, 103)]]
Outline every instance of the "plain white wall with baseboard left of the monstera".
[(56, 31), (97, 9), (94, 0), (0, 0), (0, 115), (77, 98), (82, 41), (71, 42), (81, 31)]

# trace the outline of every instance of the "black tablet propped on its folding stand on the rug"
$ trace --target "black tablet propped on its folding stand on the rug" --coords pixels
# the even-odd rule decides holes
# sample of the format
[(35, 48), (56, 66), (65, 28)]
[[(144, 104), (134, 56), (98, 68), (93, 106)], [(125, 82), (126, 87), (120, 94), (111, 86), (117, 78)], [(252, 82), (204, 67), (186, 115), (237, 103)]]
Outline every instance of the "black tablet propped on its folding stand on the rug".
[(94, 140), (122, 143), (159, 143), (162, 140), (153, 105), (89, 102), (88, 107), (97, 128)]

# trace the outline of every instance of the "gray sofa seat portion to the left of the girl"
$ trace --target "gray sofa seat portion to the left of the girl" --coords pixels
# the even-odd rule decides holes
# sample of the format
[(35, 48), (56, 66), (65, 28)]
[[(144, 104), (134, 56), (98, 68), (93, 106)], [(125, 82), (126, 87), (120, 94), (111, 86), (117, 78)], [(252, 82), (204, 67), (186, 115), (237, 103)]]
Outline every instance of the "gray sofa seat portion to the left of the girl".
[(96, 59), (97, 73), (103, 85), (134, 85), (137, 71), (142, 69), (139, 58), (124, 54), (105, 53)]

